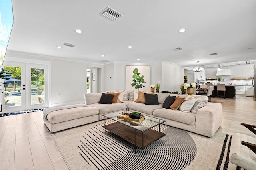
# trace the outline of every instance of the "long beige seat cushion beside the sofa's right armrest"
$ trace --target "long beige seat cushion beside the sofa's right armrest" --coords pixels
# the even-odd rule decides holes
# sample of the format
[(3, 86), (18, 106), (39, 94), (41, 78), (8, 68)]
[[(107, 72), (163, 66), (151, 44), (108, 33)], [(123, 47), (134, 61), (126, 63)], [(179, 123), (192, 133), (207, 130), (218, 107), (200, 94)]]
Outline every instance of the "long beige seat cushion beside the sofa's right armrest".
[(154, 110), (153, 115), (156, 117), (162, 117), (181, 123), (186, 123), (188, 125), (195, 125), (196, 122), (195, 114), (191, 112), (186, 113), (179, 110), (161, 108)]

